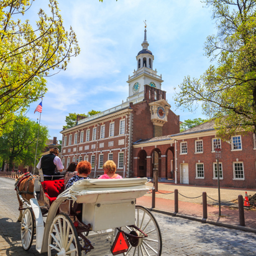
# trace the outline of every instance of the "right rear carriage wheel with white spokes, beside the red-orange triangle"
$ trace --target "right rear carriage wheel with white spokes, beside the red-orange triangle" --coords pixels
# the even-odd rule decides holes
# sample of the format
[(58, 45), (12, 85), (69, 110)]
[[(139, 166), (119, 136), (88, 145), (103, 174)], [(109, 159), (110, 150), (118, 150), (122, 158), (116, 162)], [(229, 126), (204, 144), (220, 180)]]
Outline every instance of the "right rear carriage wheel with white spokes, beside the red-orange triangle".
[[(145, 238), (130, 239), (127, 256), (160, 256), (162, 254), (162, 235), (155, 217), (142, 206), (135, 206), (135, 226), (139, 227), (148, 236)], [(122, 230), (132, 235), (143, 234), (132, 227), (122, 227)]]

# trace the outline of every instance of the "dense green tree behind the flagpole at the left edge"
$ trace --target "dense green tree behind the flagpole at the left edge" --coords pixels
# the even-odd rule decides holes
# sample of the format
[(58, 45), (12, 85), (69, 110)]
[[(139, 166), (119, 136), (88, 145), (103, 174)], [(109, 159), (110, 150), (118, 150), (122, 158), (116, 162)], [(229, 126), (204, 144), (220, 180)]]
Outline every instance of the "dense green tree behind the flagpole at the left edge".
[[(39, 124), (27, 117), (18, 116), (11, 129), (0, 137), (0, 158), (9, 163), (9, 170), (13, 164), (34, 165), (35, 147)], [(48, 138), (48, 128), (40, 126), (39, 141), (37, 145), (37, 160)]]

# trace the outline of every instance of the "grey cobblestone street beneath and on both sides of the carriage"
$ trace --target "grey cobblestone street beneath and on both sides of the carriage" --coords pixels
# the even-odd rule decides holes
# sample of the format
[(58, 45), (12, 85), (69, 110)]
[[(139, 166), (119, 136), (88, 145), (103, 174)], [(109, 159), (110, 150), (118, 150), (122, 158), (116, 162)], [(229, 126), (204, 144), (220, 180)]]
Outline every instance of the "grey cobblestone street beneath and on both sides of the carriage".
[[(39, 255), (35, 240), (28, 252), (22, 249), (14, 180), (0, 178), (0, 195), (0, 255)], [(164, 256), (256, 254), (254, 233), (153, 214), (162, 232)]]

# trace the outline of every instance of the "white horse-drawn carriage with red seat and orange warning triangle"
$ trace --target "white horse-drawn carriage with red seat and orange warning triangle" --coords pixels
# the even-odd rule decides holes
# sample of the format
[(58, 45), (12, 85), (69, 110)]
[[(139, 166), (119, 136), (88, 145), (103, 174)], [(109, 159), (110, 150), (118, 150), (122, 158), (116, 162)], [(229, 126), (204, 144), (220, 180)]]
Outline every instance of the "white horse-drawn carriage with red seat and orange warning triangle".
[(146, 183), (147, 178), (80, 180), (64, 190), (63, 180), (35, 177), (34, 198), (21, 198), (22, 246), (29, 250), (36, 234), (36, 249), (48, 255), (161, 255), (155, 217), (135, 205), (149, 191)]

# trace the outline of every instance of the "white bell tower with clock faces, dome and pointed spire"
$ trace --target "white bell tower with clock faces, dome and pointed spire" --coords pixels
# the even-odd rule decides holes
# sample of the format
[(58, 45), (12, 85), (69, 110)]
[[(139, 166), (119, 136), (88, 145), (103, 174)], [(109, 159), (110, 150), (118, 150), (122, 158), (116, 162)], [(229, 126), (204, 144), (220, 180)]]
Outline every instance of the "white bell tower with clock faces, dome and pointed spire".
[(157, 69), (153, 70), (153, 53), (148, 49), (147, 42), (147, 24), (145, 23), (144, 41), (142, 42), (142, 50), (137, 54), (137, 69), (134, 70), (132, 76), (129, 75), (127, 83), (129, 84), (129, 97), (127, 101), (132, 101), (135, 98), (144, 97), (144, 85), (149, 85), (153, 88), (161, 89), (162, 75), (157, 75)]

